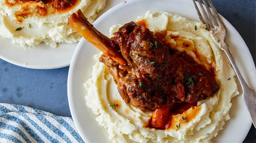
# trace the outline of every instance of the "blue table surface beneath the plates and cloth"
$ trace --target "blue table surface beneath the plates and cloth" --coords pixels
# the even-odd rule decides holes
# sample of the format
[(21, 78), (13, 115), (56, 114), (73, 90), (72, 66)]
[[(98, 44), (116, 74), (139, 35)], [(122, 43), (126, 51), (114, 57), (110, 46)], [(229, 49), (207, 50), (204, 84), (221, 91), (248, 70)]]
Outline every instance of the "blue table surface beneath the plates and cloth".
[[(212, 2), (240, 33), (255, 62), (255, 0)], [(60, 116), (71, 116), (67, 96), (68, 70), (69, 67), (28, 69), (0, 59), (0, 103), (26, 105)], [(253, 126), (244, 142), (255, 142)]]

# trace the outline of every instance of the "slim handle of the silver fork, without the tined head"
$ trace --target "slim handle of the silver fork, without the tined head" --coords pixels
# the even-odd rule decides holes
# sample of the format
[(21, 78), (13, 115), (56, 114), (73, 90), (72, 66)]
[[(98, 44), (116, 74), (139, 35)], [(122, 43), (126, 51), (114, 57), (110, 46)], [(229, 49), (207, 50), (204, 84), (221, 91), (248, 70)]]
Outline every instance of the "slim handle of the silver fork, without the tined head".
[(256, 105), (255, 105), (255, 101), (256, 101), (256, 94), (255, 92), (249, 88), (249, 86), (246, 84), (244, 78), (242, 77), (240, 71), (238, 70), (238, 67), (234, 61), (234, 58), (232, 57), (230, 50), (229, 50), (229, 46), (226, 43), (221, 43), (222, 47), (221, 50), (223, 50), (225, 52), (225, 54), (227, 55), (227, 58), (229, 59), (230, 64), (232, 65), (238, 80), (240, 81), (240, 84), (242, 86), (242, 97), (244, 98), (244, 102), (246, 105), (246, 108), (248, 109), (250, 115), (251, 115), (251, 119), (252, 119), (252, 123), (254, 125), (254, 127), (256, 127)]

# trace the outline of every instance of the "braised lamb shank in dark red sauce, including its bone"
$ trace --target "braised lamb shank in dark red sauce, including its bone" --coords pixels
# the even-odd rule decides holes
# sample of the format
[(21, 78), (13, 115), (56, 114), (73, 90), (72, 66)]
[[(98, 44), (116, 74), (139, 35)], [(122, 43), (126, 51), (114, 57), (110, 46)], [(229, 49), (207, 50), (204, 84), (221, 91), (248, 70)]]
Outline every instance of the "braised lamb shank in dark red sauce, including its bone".
[(99, 61), (108, 67), (120, 96), (143, 111), (196, 103), (219, 90), (211, 71), (165, 46), (143, 25), (124, 24), (110, 39), (78, 11), (68, 26), (103, 52)]

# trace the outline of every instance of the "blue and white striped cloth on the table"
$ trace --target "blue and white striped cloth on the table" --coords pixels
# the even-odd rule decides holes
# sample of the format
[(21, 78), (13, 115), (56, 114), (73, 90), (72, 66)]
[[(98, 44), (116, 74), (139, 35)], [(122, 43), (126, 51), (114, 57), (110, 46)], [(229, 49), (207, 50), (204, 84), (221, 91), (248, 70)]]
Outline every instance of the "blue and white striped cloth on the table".
[(72, 117), (0, 103), (0, 143), (83, 143)]

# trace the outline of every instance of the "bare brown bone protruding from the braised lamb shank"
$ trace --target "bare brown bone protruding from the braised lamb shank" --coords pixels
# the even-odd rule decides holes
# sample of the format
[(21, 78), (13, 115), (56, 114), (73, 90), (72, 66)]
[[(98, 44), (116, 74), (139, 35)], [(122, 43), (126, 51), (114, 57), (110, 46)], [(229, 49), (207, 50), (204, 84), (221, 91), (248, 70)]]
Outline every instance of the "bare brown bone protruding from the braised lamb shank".
[(69, 17), (68, 27), (101, 50), (105, 55), (114, 59), (117, 63), (121, 65), (125, 65), (127, 63), (124, 57), (122, 57), (115, 48), (118, 44), (94, 28), (80, 9), (76, 13), (72, 13)]

